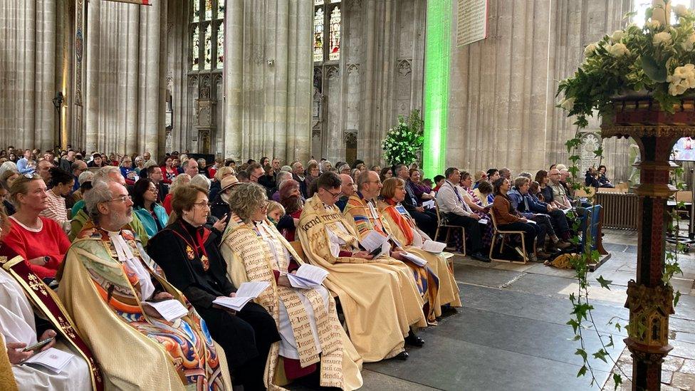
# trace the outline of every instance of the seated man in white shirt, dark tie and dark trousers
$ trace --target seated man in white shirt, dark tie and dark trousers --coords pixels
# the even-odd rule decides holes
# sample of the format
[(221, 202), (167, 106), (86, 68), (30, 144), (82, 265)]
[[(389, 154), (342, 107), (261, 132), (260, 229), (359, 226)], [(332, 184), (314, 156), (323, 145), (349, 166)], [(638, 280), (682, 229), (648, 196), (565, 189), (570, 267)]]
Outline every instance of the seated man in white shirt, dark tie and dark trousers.
[(482, 238), (478, 221), (480, 217), (464, 202), (463, 196), (456, 189), (461, 174), (456, 167), (449, 167), (444, 172), (446, 180), (437, 192), (437, 206), (441, 216), (447, 224), (463, 226), (466, 229), (466, 236), (471, 239), (471, 258), (478, 261), (489, 262), (490, 259), (481, 252)]

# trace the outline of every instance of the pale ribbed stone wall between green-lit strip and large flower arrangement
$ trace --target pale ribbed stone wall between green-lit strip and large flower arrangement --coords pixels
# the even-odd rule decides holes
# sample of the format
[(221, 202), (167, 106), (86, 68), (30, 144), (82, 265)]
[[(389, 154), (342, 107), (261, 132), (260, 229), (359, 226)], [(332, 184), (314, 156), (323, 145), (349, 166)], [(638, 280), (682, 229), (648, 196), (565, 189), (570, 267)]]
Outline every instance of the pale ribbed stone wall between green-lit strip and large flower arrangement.
[[(555, 108), (558, 82), (573, 75), (588, 43), (623, 26), (631, 2), (491, 0), (488, 38), (461, 47), (453, 3), (446, 164), (516, 173), (567, 164), (564, 144), (576, 127)], [(612, 178), (627, 179), (628, 145), (604, 140)]]

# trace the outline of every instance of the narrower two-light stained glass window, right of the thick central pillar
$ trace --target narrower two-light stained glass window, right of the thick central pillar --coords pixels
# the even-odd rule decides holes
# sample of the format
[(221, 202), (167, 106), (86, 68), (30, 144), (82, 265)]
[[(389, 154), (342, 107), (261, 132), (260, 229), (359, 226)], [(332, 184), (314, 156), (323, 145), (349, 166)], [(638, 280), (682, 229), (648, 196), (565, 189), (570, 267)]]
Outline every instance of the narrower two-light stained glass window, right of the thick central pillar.
[(340, 60), (340, 12), (341, 0), (314, 0), (314, 41), (313, 58), (315, 63)]

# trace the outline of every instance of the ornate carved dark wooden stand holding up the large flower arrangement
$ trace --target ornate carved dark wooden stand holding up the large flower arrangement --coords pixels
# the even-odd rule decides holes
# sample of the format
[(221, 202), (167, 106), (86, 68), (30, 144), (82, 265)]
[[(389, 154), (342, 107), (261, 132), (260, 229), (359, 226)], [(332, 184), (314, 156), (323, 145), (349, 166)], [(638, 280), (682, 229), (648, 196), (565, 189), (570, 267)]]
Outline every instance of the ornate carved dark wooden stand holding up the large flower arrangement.
[(615, 98), (615, 115), (603, 118), (602, 137), (633, 137), (639, 145), (637, 279), (627, 287), (630, 311), (627, 348), (632, 353), (632, 390), (659, 390), (662, 363), (669, 345), (669, 315), (674, 313), (673, 289), (664, 285), (667, 199), (676, 192), (669, 161), (681, 137), (695, 135), (695, 102), (682, 100), (674, 114), (646, 95)]

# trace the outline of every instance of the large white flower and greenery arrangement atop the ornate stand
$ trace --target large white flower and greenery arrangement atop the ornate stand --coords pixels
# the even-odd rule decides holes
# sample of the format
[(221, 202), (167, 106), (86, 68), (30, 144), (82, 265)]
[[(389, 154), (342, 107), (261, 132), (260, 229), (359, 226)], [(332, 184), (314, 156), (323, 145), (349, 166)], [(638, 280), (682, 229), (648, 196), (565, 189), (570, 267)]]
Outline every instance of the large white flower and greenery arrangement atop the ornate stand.
[[(647, 10), (647, 18), (651, 14), (651, 9)], [(688, 11), (679, 15), (677, 22), (669, 26), (647, 21), (643, 28), (628, 24), (587, 45), (577, 72), (560, 81), (556, 96), (563, 95), (564, 99), (558, 107), (567, 110), (568, 116), (576, 115), (575, 125), (583, 128), (595, 111), (599, 115), (610, 113), (616, 95), (644, 91), (673, 113), (677, 97), (686, 91), (676, 89), (677, 80), (669, 80), (669, 76), (676, 68), (695, 63), (695, 15)], [(665, 41), (664, 35), (668, 37)], [(685, 89), (690, 88), (695, 85)]]

